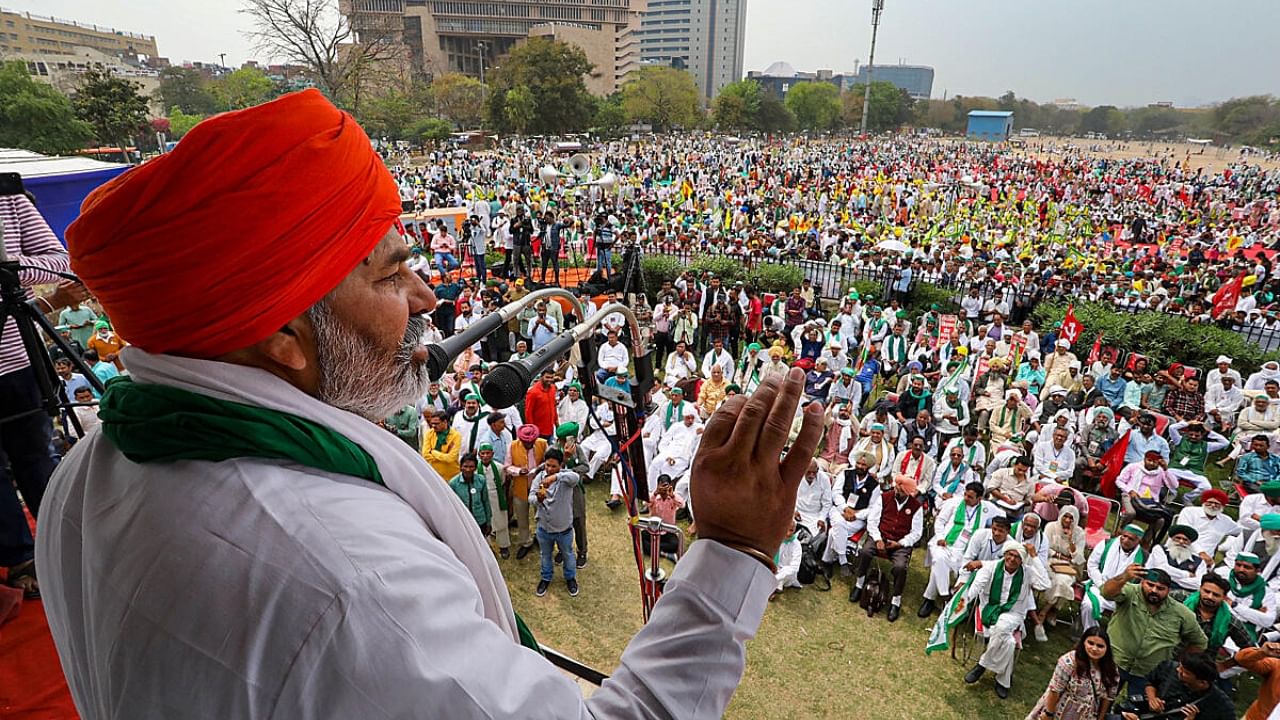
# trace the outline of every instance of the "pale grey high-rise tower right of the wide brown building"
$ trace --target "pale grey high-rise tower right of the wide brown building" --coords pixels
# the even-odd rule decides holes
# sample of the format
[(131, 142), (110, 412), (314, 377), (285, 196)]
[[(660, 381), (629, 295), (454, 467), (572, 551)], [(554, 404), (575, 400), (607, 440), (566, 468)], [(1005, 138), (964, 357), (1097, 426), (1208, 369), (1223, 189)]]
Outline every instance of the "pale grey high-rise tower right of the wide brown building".
[(708, 99), (742, 78), (746, 0), (649, 0), (640, 59), (684, 68)]

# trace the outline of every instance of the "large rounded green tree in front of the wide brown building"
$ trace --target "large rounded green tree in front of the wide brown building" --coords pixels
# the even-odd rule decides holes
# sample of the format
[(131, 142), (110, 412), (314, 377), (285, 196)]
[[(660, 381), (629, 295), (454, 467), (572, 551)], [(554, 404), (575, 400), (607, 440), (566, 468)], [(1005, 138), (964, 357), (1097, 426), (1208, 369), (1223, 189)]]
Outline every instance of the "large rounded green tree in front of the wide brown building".
[[(524, 87), (532, 96), (532, 117), (524, 131), (548, 135), (577, 132), (591, 122), (595, 102), (582, 78), (594, 65), (581, 49), (534, 37), (512, 47), (495, 65), (488, 78), (488, 114), (494, 127), (512, 131), (511, 118), (524, 118), (525, 108), (513, 115), (506, 111), (507, 95), (517, 87)], [(520, 101), (524, 102), (524, 99)]]

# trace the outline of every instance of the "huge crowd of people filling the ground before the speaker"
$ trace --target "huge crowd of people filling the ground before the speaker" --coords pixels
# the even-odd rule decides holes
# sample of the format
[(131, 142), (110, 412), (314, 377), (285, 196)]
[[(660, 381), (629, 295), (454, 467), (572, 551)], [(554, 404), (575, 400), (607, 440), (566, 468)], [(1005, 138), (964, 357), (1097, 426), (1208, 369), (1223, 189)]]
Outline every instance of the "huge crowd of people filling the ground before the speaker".
[[(815, 565), (893, 623), (909, 569), (923, 566), (915, 612), (934, 626), (922, 642), (946, 648), (974, 626), (984, 648), (964, 680), (991, 671), (1001, 698), (1020, 643), (1046, 642), (1074, 616), (1078, 647), (1029, 717), (1179, 706), (1231, 717), (1234, 678), (1270, 676), (1280, 660), (1280, 364), (1242, 374), (1226, 356), (1215, 368), (1157, 368), (1140, 347), (1082, 356), (1064, 328), (1029, 315), (1056, 293), (1280, 327), (1280, 172), (918, 138), (687, 136), (595, 150), (596, 172), (616, 172), (620, 187), (540, 182), (548, 160), (532, 143), (425, 164), (388, 158), (410, 266), (438, 300), (425, 342), (561, 284), (562, 259), (594, 259), (604, 283), (576, 288), (585, 316), (557, 299), (530, 305), (380, 423), (449, 483), (502, 561), (536, 548), (538, 596), (557, 565), (567, 593), (580, 592), (584, 484), (608, 483), (611, 511), (623, 502), (613, 409), (584, 384), (632, 387), (643, 348), (658, 378), (637, 438), (645, 512), (687, 516), (691, 536), (692, 464), (716, 410), (792, 368), (823, 404), (823, 441), (776, 560), (778, 594)], [(463, 222), (412, 217), (440, 208), (465, 208)], [(823, 261), (886, 282), (874, 296), (808, 279), (773, 295), (687, 270), (645, 297), (609, 290), (622, 246)], [(503, 260), (492, 266), (494, 251)], [(909, 313), (919, 281), (1000, 290), (957, 297), (955, 316)], [(1235, 281), (1238, 297), (1216, 311)], [(566, 355), (515, 407), (485, 404), (495, 364), (614, 301), (635, 310), (640, 337), (611, 314), (595, 357)], [(99, 378), (128, 372), (108, 318), (74, 304), (60, 322)], [(69, 395), (93, 401), (69, 361), (56, 369)], [(88, 406), (74, 415), (96, 421)], [(63, 425), (73, 442), (70, 416)], [(800, 425), (797, 414), (792, 432)], [(676, 551), (664, 541), (664, 556), (678, 561)], [(873, 593), (883, 602), (868, 602)], [(1274, 702), (1261, 694), (1249, 716)]]

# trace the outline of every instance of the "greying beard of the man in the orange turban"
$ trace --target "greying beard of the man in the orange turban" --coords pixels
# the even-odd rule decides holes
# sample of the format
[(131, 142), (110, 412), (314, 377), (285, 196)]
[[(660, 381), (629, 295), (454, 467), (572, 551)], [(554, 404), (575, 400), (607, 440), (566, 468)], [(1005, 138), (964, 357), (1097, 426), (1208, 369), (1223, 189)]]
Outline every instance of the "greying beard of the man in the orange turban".
[(378, 421), (426, 392), (426, 363), (411, 357), (426, 332), (425, 315), (410, 316), (404, 340), (389, 352), (338, 320), (324, 300), (307, 316), (315, 332), (320, 401)]

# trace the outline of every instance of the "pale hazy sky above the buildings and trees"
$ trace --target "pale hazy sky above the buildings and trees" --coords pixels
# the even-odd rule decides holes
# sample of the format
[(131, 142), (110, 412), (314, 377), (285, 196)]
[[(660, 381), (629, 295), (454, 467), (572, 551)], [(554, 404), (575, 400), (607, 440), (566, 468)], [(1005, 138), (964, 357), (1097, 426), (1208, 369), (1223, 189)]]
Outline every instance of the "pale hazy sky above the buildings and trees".
[[(870, 0), (744, 0), (746, 69), (867, 61)], [(8, 0), (6, 6), (155, 35), (175, 63), (255, 58), (238, 0)], [(1280, 1), (886, 0), (876, 49), (936, 69), (933, 96), (1000, 95), (1087, 105), (1199, 105), (1280, 95)]]

